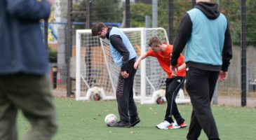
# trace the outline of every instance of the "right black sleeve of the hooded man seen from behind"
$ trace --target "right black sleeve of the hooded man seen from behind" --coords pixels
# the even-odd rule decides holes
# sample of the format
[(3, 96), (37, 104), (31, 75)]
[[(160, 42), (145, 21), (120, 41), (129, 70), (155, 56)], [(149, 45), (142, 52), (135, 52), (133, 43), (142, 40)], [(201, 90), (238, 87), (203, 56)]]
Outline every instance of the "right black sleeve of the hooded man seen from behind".
[(225, 32), (224, 47), (222, 50), (222, 71), (227, 71), (231, 58), (232, 58), (232, 41), (231, 41), (231, 34), (229, 31), (229, 24), (228, 24)]

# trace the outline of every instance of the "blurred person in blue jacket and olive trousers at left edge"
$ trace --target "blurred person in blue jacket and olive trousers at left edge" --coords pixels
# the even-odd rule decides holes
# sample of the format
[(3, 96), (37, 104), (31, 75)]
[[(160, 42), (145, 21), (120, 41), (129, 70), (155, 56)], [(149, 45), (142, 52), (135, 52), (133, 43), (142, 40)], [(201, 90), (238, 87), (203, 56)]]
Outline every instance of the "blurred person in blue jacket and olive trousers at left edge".
[(48, 140), (57, 131), (49, 62), (39, 20), (52, 0), (0, 1), (0, 139), (17, 140), (17, 115), (32, 125), (24, 139)]

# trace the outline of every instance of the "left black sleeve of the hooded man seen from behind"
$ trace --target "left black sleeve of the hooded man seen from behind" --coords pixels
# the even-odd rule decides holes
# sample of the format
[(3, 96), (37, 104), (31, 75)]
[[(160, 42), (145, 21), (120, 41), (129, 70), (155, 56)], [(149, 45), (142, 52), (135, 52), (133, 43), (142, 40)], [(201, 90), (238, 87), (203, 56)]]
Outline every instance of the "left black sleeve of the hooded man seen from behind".
[(172, 66), (177, 65), (177, 59), (180, 57), (180, 53), (184, 49), (187, 41), (189, 40), (191, 36), (191, 31), (192, 31), (192, 22), (189, 15), (186, 13), (186, 15), (184, 15), (184, 18), (182, 19), (182, 22), (180, 22), (179, 29), (177, 30), (177, 36), (175, 39), (172, 59), (171, 59)]

